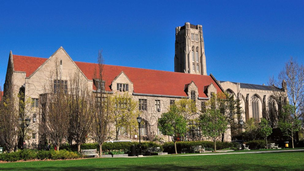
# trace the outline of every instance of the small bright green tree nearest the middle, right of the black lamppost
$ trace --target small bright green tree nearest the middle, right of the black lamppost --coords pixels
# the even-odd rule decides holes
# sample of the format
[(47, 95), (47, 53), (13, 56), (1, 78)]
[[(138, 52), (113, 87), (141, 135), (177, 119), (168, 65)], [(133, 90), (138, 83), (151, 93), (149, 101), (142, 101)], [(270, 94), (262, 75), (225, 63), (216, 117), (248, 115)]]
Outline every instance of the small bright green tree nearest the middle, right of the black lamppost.
[(170, 106), (170, 110), (162, 114), (162, 117), (158, 119), (158, 127), (163, 135), (172, 137), (175, 153), (177, 154), (176, 141), (178, 137), (184, 136), (186, 133), (187, 121), (180, 114), (176, 105)]

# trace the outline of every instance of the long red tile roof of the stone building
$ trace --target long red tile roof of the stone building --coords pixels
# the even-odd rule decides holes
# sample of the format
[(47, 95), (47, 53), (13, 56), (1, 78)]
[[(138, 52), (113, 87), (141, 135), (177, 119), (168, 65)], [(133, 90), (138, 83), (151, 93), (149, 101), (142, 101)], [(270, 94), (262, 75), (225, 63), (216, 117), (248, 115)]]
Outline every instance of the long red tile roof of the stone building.
[[(26, 76), (32, 74), (47, 60), (46, 58), (20, 55), (13, 55), (13, 58), (15, 70), (26, 72)], [(98, 65), (96, 63), (76, 61), (75, 63), (89, 80), (93, 79), (95, 68), (98, 69)], [(104, 65), (103, 70), (103, 80), (105, 81), (106, 91), (112, 91), (110, 89), (110, 85), (122, 71), (133, 83), (134, 93), (188, 96), (185, 93), (184, 88), (185, 85), (191, 83), (191, 81), (193, 81), (198, 87), (199, 97), (207, 97), (206, 94), (203, 93), (204, 87), (211, 83), (213, 83), (218, 92), (222, 91), (211, 76), (207, 75), (185, 74), (114, 65)]]

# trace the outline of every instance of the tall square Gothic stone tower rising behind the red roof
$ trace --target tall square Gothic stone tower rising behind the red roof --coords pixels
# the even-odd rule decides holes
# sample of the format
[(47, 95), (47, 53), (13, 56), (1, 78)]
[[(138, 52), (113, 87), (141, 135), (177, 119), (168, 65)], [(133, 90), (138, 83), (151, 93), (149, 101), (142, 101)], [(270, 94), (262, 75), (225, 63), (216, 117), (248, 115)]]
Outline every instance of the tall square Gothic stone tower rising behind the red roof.
[(174, 71), (207, 75), (202, 25), (187, 22), (175, 30)]

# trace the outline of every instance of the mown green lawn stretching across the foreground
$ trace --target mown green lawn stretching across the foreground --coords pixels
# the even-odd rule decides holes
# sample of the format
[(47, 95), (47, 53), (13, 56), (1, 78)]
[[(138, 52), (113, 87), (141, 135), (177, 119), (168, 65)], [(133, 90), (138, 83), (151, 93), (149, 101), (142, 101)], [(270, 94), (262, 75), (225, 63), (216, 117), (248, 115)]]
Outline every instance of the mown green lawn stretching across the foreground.
[(0, 170), (303, 170), (304, 152), (2, 163)]

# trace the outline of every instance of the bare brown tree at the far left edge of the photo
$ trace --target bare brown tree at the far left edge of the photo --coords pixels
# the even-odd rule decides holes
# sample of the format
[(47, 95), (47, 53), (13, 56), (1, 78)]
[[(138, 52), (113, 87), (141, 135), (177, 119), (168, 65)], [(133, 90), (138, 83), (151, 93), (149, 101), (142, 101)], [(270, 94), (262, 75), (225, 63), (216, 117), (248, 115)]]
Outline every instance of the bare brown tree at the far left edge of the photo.
[[(7, 71), (5, 84), (5, 94), (0, 100), (0, 141), (4, 144), (8, 152), (12, 152), (17, 146), (20, 135), (19, 125), (19, 99), (14, 93), (13, 73)], [(1, 91), (1, 88), (0, 88)]]

